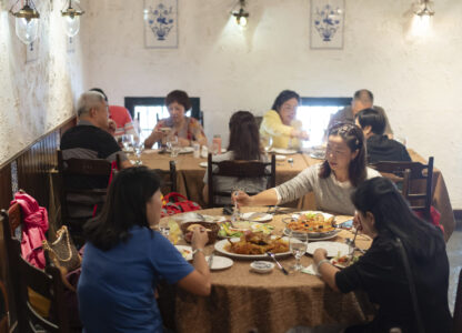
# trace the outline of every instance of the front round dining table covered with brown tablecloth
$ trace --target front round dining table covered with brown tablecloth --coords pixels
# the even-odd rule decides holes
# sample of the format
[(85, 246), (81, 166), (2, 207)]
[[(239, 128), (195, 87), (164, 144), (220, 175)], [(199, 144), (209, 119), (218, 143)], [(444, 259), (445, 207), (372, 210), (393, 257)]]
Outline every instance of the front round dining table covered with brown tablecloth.
[[(242, 213), (261, 212), (267, 208), (242, 208)], [(273, 233), (282, 234), (284, 218), (291, 212), (274, 214), (268, 222), (274, 226)], [(198, 211), (202, 215), (222, 215), (222, 209)], [(179, 219), (181, 215), (174, 219)], [(335, 216), (337, 222), (352, 216)], [(161, 219), (160, 223), (180, 223), (172, 216)], [(330, 241), (345, 243), (353, 233), (342, 230)], [(185, 244), (182, 236), (171, 239), (177, 244)], [(356, 238), (356, 246), (366, 250), (371, 239), (365, 235)], [(214, 245), (207, 245), (207, 255), (215, 251)], [(217, 253), (218, 255), (223, 255)], [(319, 276), (291, 271), (294, 258), (289, 254), (278, 261), (289, 270), (285, 275), (274, 268), (270, 273), (254, 273), (250, 263), (231, 255), (231, 268), (211, 271), (212, 290), (209, 296), (190, 294), (175, 285), (163, 284), (159, 289), (158, 304), (164, 325), (175, 332), (287, 332), (302, 325), (314, 327), (323, 324), (352, 325), (368, 320), (370, 304), (355, 293), (342, 294), (333, 291)], [(262, 259), (268, 260), (270, 259)], [(301, 259), (303, 266), (313, 262), (311, 255)], [(369, 309), (369, 310), (368, 310)]]

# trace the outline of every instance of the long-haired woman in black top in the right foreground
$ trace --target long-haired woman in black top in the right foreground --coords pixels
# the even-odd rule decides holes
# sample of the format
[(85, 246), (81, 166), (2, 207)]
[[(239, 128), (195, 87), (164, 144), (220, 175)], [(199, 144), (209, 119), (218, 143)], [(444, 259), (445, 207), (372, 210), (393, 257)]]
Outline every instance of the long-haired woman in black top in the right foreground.
[(352, 195), (358, 210), (359, 230), (373, 239), (369, 251), (351, 266), (340, 271), (325, 260), (325, 250), (314, 252), (314, 265), (322, 279), (343, 293), (363, 290), (380, 309), (370, 323), (345, 332), (419, 332), (410, 285), (399, 238), (404, 245), (415, 284), (424, 332), (450, 332), (448, 306), (449, 263), (441, 230), (420, 220), (395, 185), (385, 178), (373, 178), (359, 185)]

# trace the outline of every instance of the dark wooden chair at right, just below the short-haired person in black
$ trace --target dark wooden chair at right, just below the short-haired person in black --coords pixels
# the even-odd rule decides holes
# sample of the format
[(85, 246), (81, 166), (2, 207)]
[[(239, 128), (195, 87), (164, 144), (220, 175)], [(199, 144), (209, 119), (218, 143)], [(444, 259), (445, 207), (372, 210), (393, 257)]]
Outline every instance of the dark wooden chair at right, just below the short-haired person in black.
[[(395, 182), (396, 180), (403, 180), (402, 194), (409, 201), (411, 209), (415, 212), (422, 212), (424, 219), (431, 220), (433, 157), (429, 158), (428, 164), (420, 162), (378, 162), (370, 167)], [(405, 170), (410, 171), (408, 180), (405, 180)], [(423, 186), (422, 182), (424, 183)]]

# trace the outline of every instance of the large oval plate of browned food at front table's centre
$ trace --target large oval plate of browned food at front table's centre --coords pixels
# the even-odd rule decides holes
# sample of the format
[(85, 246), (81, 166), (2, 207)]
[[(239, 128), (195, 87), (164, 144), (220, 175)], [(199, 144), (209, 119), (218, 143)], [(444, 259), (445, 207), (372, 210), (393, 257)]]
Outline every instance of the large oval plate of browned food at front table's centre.
[(215, 243), (215, 250), (222, 254), (239, 259), (267, 259), (267, 252), (275, 256), (291, 254), (287, 238), (248, 232), (241, 238), (225, 239)]

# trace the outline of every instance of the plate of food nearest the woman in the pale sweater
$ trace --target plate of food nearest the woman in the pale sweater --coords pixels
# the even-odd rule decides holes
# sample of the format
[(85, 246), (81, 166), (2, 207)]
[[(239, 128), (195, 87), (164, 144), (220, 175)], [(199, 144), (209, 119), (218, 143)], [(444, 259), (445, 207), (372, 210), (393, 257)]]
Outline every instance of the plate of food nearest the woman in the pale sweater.
[(340, 230), (334, 226), (334, 215), (319, 211), (305, 211), (293, 214), (284, 220), (284, 234), (291, 233), (297, 238), (299, 233), (308, 233), (310, 240), (329, 240), (334, 238)]

